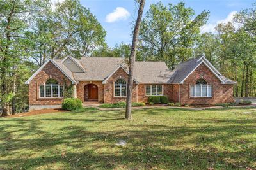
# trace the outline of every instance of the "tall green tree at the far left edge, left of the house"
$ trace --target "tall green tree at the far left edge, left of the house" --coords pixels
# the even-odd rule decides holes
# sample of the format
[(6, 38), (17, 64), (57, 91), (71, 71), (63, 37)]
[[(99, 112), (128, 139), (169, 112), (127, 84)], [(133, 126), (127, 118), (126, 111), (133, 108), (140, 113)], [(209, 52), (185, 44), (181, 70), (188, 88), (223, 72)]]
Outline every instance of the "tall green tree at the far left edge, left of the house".
[(26, 66), (25, 49), (30, 41), (24, 36), (33, 13), (44, 6), (36, 0), (0, 2), (0, 83), (3, 115), (11, 113), (10, 104), (19, 91), (19, 77)]

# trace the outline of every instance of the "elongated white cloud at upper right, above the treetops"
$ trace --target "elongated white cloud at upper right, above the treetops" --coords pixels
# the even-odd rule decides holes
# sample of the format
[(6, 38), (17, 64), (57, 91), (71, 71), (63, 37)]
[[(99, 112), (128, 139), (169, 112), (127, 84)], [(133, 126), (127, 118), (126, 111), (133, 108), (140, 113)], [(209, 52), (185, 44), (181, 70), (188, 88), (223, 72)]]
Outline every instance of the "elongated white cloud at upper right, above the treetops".
[[(202, 27), (201, 32), (205, 33), (205, 32), (215, 32), (215, 27), (216, 25), (220, 24), (220, 23), (224, 23), (227, 24), (228, 22), (232, 22), (234, 15), (237, 13), (237, 11), (232, 11), (228, 14), (228, 16), (223, 19), (223, 20), (218, 20), (214, 23), (209, 23), (204, 25), (204, 27)], [(234, 24), (234, 22), (232, 22)], [(234, 24), (235, 27), (238, 27), (238, 25)]]

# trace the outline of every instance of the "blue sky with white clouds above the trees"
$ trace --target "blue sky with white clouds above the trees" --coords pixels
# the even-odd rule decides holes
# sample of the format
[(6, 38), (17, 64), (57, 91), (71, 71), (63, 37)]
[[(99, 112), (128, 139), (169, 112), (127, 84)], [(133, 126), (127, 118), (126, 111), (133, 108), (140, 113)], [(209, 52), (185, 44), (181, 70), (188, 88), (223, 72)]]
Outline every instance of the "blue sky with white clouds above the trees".
[[(162, 0), (164, 4), (177, 4), (179, 0)], [(227, 22), (232, 19), (236, 11), (249, 8), (254, 0), (184, 0), (187, 7), (193, 8), (196, 14), (203, 10), (210, 11), (208, 24), (202, 32), (209, 32), (220, 22)], [(149, 9), (150, 4), (157, 3), (155, 0), (146, 0), (145, 9)], [(107, 31), (106, 42), (109, 46), (116, 44), (131, 43), (132, 21), (135, 20), (134, 0), (81, 0), (81, 4), (90, 8), (104, 29)], [(113, 13), (115, 12), (115, 13)], [(112, 13), (112, 14), (110, 14)], [(109, 15), (110, 14), (110, 15)], [(108, 16), (108, 17), (107, 17)]]

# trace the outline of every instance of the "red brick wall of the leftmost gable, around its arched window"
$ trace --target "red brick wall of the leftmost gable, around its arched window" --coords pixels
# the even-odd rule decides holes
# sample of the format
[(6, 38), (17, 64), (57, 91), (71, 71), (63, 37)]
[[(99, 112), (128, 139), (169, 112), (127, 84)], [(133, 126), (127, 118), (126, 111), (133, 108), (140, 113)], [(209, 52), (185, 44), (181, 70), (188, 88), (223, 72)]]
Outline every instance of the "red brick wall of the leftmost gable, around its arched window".
[(71, 83), (58, 67), (49, 62), (29, 83), (29, 105), (56, 105), (62, 103), (62, 99), (39, 98), (39, 85), (44, 85), (50, 76), (57, 80), (60, 85), (70, 85)]

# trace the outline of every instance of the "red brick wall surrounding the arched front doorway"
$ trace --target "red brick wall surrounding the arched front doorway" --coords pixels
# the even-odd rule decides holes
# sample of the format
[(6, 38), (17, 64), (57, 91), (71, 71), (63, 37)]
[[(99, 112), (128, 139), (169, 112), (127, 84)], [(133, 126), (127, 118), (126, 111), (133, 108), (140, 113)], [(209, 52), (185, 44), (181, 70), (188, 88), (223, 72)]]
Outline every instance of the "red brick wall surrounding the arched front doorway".
[(98, 101), (99, 103), (103, 103), (104, 102), (104, 85), (102, 84), (102, 81), (79, 81), (79, 83), (76, 85), (77, 98), (81, 99), (81, 101), (84, 102), (84, 86), (88, 84), (97, 85)]

